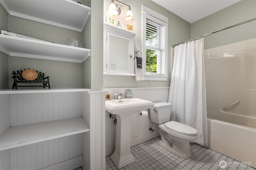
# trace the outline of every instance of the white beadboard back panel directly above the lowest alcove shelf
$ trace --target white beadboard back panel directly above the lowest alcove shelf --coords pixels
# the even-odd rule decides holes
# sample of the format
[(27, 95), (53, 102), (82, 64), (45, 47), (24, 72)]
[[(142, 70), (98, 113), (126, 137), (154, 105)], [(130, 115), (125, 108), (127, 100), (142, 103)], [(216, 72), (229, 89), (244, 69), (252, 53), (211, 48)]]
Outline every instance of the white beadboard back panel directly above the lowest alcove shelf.
[[(5, 97), (1, 95), (1, 115), (9, 110), (10, 126), (26, 125), (43, 121), (59, 120), (82, 115), (82, 92), (9, 94), (9, 107), (5, 108)], [(7, 104), (8, 105), (8, 104)], [(3, 127), (1, 127), (1, 133)], [(6, 129), (4, 129), (6, 130)]]

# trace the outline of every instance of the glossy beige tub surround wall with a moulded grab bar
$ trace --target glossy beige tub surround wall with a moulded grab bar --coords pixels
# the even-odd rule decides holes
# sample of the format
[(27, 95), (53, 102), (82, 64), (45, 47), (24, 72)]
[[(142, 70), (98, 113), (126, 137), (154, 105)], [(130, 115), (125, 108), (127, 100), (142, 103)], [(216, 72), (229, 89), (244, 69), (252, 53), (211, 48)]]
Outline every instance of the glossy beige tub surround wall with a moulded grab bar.
[(207, 117), (256, 128), (255, 44), (256, 38), (204, 50)]

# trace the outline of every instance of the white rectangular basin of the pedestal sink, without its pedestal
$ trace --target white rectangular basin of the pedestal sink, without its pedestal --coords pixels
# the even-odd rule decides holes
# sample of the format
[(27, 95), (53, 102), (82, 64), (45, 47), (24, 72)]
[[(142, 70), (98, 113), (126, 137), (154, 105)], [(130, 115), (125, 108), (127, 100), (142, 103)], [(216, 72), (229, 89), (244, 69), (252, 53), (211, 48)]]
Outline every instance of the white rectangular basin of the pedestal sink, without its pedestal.
[(112, 114), (127, 114), (140, 111), (153, 107), (154, 104), (151, 101), (138, 99), (138, 98), (127, 98), (118, 100), (106, 100), (105, 109)]

